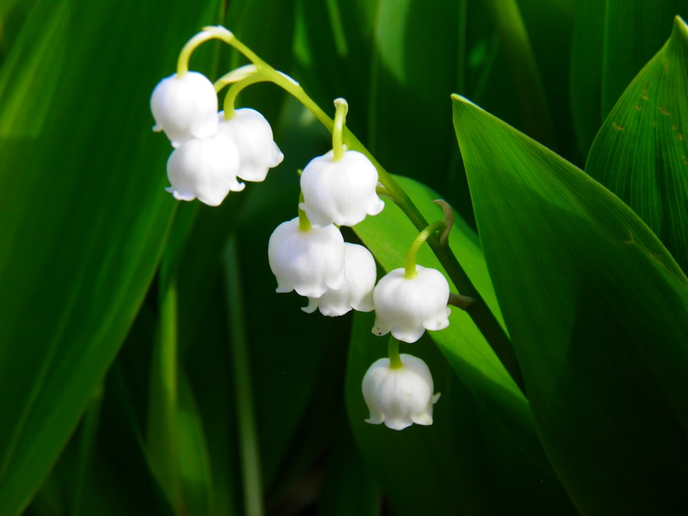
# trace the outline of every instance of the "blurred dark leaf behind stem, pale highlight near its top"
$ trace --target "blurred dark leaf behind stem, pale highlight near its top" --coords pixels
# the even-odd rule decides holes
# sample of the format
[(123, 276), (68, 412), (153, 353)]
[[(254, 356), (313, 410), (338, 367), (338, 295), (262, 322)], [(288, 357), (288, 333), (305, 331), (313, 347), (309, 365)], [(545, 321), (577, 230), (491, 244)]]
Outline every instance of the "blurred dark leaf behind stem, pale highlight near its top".
[[(430, 9), (417, 0), (378, 3), (367, 147), (389, 171), (435, 189), (446, 184), (454, 150), (447, 98), (464, 74), (465, 24), (465, 6), (454, 0)], [(352, 105), (350, 118), (357, 111)]]

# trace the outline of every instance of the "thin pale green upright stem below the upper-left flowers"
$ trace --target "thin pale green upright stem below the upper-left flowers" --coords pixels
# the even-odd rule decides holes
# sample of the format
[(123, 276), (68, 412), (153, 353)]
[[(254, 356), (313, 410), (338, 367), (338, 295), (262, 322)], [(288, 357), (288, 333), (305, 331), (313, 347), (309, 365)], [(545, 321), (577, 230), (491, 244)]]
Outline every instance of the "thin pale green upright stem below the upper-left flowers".
[(244, 513), (246, 516), (261, 516), (264, 513), (263, 487), (261, 480), (258, 432), (250, 378), (250, 357), (246, 334), (246, 313), (244, 296), (241, 292), (241, 263), (236, 237), (227, 242), (224, 257), (225, 292), (229, 308), (230, 352), (234, 366), (233, 378), (237, 396), (237, 424), (239, 453), (241, 457), (241, 480), (244, 489)]

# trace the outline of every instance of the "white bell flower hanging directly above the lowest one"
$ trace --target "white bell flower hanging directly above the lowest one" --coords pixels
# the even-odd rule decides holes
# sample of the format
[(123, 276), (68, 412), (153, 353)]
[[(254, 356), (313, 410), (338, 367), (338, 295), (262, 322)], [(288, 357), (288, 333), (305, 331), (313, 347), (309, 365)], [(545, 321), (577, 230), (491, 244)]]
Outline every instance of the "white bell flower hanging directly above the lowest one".
[(418, 341), (425, 330), (449, 326), (449, 283), (437, 269), (416, 266), (416, 276), (395, 269), (378, 281), (373, 291), (373, 333), (391, 334), (400, 341)]

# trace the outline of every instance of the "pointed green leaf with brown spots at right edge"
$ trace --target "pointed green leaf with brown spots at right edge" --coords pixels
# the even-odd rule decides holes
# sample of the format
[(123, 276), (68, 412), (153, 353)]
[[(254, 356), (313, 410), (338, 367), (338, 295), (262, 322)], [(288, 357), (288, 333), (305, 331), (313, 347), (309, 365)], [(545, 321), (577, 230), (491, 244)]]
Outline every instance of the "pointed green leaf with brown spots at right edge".
[(595, 138), (585, 171), (645, 221), (688, 270), (688, 26), (627, 87)]

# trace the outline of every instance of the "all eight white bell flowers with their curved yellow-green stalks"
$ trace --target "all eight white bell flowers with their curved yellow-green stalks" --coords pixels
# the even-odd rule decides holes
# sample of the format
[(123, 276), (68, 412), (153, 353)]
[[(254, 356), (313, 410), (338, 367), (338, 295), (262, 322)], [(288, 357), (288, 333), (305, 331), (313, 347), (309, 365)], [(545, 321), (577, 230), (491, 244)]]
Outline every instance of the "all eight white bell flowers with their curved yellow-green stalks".
[[(252, 65), (230, 72), (213, 85), (186, 65), (202, 41), (219, 38), (244, 53)], [(235, 109), (241, 89), (270, 80), (293, 90), (299, 87), (239, 43), (224, 28), (205, 28), (186, 44), (176, 74), (158, 83), (151, 96), (155, 131), (164, 131), (173, 151), (167, 177), (175, 199), (198, 199), (210, 206), (222, 203), (243, 181), (264, 181), (269, 169), (283, 160), (268, 121), (250, 108)], [(218, 111), (216, 90), (236, 83)], [(302, 90), (290, 93), (301, 95)], [(300, 178), (299, 215), (279, 224), (268, 241), (268, 261), (277, 279), (277, 292), (308, 298), (304, 312), (319, 310), (341, 316), (351, 310), (375, 310), (372, 332), (391, 333), (389, 358), (381, 358), (363, 378), (363, 396), (370, 410), (367, 422), (401, 430), (414, 422), (432, 424), (433, 380), (427, 365), (399, 354), (399, 341), (414, 343), (425, 330), (449, 325), (449, 283), (442, 272), (416, 265), (416, 253), (433, 231), (451, 222), (436, 222), (423, 230), (407, 253), (405, 268), (392, 270), (376, 284), (376, 263), (364, 246), (345, 242), (340, 226), (355, 226), (378, 215), (385, 203), (378, 196), (378, 169), (365, 153), (347, 148), (344, 138), (348, 105), (334, 101), (332, 149), (313, 158)], [(445, 219), (447, 218), (445, 214)], [(451, 220), (451, 219), (450, 219)], [(440, 226), (437, 226), (437, 225)], [(432, 229), (431, 229), (432, 228)]]

